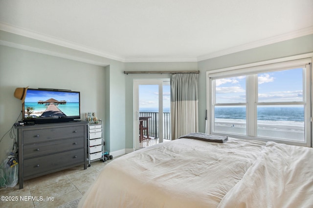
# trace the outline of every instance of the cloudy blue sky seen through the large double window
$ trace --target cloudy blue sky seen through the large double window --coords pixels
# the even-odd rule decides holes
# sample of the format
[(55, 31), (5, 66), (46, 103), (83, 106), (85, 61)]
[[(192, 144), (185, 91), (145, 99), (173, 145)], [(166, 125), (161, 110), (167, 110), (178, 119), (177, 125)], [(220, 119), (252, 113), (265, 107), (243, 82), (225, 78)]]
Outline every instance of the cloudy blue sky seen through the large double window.
[[(258, 74), (259, 102), (303, 100), (303, 69)], [(216, 79), (216, 103), (246, 102), (246, 76)]]

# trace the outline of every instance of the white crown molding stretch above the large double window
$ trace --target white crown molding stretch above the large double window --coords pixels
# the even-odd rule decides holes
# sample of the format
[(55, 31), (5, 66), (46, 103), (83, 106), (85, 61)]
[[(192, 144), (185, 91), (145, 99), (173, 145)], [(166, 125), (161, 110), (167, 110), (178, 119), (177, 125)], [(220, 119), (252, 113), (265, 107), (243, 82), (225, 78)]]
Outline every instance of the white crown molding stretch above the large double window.
[(239, 46), (228, 48), (228, 49), (225, 49), (222, 51), (217, 51), (217, 52), (210, 53), (207, 55), (199, 56), (197, 58), (197, 61), (203, 61), (203, 60), (210, 59), (210, 58), (221, 57), (224, 55), (233, 54), (236, 52), (245, 51), (245, 50), (249, 50), (252, 48), (257, 48), (257, 47), (282, 42), (282, 41), (293, 39), (293, 38), (299, 38), (299, 37), (307, 36), (307, 35), (311, 35), (311, 34), (313, 34), (313, 25), (310, 27), (307, 27), (307, 28), (292, 31), (290, 33), (285, 33), (282, 35), (278, 35), (278, 36), (274, 36), (274, 37), (270, 37), (270, 38), (265, 38), (262, 40), (257, 40), (257, 41), (250, 42), (250, 43), (247, 43), (244, 45), (239, 45)]

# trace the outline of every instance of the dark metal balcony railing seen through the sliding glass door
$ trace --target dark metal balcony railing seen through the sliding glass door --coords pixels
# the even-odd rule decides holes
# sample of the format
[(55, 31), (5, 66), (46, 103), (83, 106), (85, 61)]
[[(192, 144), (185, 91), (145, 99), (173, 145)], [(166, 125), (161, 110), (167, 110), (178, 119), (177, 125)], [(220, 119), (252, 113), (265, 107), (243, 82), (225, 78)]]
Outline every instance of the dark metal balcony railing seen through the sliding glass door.
[[(149, 137), (159, 138), (158, 135), (158, 113), (156, 112), (139, 112), (139, 117), (149, 118)], [(171, 140), (171, 116), (170, 113), (163, 113), (163, 139)], [(143, 133), (147, 136), (147, 133)]]

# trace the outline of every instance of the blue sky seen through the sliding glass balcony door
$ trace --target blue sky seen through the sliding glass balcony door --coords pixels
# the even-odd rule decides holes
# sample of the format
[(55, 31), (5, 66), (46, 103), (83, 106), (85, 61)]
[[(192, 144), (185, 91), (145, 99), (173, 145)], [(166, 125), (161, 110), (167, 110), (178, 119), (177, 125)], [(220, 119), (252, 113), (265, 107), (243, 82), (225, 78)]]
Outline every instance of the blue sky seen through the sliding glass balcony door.
[[(163, 85), (163, 108), (170, 108), (170, 85)], [(139, 109), (158, 108), (158, 85), (139, 85)]]

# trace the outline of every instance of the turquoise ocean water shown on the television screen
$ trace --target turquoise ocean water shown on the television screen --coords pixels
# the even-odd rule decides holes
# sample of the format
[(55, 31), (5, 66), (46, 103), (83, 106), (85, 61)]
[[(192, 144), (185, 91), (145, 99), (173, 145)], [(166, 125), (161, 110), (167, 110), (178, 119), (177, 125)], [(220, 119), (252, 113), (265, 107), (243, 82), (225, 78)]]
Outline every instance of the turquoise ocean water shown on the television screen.
[[(41, 115), (47, 108), (45, 105), (37, 104), (37, 102), (25, 102), (24, 106), (25, 108), (33, 107), (34, 109), (33, 114), (36, 114), (36, 115)], [(65, 105), (59, 105), (57, 107), (60, 111), (65, 113), (67, 116), (79, 115), (79, 103), (67, 103)], [(25, 113), (25, 116), (27, 116), (26, 113)]]

